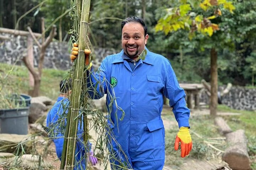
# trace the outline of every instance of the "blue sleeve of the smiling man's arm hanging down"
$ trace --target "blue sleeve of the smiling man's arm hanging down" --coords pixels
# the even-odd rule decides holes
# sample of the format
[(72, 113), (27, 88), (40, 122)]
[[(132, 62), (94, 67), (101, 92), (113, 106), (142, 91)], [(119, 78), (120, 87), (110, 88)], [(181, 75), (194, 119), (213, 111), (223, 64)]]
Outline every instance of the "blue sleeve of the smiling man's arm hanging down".
[(167, 97), (172, 107), (175, 119), (178, 122), (179, 128), (181, 126), (190, 128), (188, 119), (190, 117), (190, 109), (186, 107), (185, 91), (178, 84), (176, 75), (171, 65), (167, 69), (167, 76), (165, 81), (164, 96)]

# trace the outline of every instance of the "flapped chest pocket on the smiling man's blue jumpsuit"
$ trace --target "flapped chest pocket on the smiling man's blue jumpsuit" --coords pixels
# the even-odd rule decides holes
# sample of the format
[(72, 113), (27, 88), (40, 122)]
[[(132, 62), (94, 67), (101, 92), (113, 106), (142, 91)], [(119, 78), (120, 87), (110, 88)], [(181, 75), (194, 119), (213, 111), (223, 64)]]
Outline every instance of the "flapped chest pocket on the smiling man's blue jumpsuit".
[(156, 96), (160, 86), (160, 78), (158, 75), (147, 75), (147, 92), (150, 96)]

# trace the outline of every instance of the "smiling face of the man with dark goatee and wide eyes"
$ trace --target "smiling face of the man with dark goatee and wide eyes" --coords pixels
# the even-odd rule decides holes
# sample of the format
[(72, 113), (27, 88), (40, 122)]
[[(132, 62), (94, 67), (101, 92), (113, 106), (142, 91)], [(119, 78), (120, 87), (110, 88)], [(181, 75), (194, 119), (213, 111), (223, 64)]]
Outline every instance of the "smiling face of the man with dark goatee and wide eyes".
[(148, 34), (144, 37), (144, 29), (140, 23), (126, 23), (122, 30), (122, 47), (124, 53), (134, 60), (145, 49)]

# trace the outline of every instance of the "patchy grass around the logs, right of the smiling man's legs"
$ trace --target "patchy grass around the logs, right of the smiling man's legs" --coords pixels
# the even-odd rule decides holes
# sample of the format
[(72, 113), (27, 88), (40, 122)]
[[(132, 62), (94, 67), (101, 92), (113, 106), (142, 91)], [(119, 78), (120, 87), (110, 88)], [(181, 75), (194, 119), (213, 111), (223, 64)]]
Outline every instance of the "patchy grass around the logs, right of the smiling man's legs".
[[(218, 111), (241, 113), (241, 115), (228, 115), (222, 116), (230, 128), (235, 131), (238, 129), (244, 129), (248, 138), (248, 153), (252, 160), (251, 169), (256, 169), (256, 111), (238, 111), (230, 109), (228, 106), (219, 105)], [(174, 121), (174, 115), (164, 111), (164, 117), (170, 121)], [(166, 113), (166, 114), (165, 114)], [(227, 144), (225, 140), (214, 140), (211, 138), (223, 137), (218, 132), (218, 127), (214, 124), (214, 118), (210, 115), (194, 116), (190, 119), (191, 137), (193, 140), (193, 149), (188, 158), (180, 158), (180, 152), (174, 151), (174, 141), (178, 132), (178, 128), (166, 130), (166, 165), (169, 165), (173, 169), (178, 169), (178, 166), (185, 163), (186, 159), (196, 158), (200, 160), (210, 160), (216, 158), (219, 151), (216, 151), (212, 147), (207, 146), (211, 143), (214, 147), (225, 151)], [(194, 133), (195, 132), (195, 133)], [(199, 137), (198, 137), (199, 136)], [(219, 159), (222, 154), (219, 154)]]

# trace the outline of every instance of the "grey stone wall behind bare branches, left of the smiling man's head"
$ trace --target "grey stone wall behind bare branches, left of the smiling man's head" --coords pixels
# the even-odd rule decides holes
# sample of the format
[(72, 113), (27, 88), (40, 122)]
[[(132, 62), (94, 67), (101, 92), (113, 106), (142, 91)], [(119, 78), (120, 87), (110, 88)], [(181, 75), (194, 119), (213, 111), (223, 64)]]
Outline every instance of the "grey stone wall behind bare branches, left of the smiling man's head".
[[(0, 39), (0, 62), (17, 65), (23, 64), (22, 58), (27, 55), (27, 37), (14, 36), (11, 34), (0, 33), (0, 35), (9, 37), (9, 40)], [(34, 67), (38, 66), (39, 48), (36, 43), (33, 44)], [(96, 48), (93, 51), (94, 67), (99, 67), (103, 58), (114, 54), (114, 49)], [(46, 49), (44, 57), (44, 68), (69, 69), (72, 65), (70, 62), (71, 44), (67, 42), (53, 41)]]

